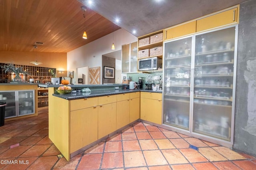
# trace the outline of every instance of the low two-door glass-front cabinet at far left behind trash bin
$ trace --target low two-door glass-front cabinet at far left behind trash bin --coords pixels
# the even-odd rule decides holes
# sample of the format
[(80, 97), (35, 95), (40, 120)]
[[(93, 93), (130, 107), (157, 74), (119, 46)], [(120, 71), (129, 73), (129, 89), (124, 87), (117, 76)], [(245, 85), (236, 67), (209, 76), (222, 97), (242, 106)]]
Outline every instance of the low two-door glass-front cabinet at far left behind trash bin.
[(0, 91), (0, 102), (6, 102), (5, 118), (35, 113), (34, 90)]

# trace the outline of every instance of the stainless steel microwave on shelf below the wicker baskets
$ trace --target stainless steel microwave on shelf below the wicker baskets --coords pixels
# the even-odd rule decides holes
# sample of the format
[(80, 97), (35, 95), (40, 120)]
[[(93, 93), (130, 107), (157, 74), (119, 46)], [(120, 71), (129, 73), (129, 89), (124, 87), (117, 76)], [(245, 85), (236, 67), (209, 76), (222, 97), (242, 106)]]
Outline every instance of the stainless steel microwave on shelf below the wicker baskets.
[(162, 68), (162, 59), (159, 57), (138, 60), (138, 71), (158, 70), (158, 68)]

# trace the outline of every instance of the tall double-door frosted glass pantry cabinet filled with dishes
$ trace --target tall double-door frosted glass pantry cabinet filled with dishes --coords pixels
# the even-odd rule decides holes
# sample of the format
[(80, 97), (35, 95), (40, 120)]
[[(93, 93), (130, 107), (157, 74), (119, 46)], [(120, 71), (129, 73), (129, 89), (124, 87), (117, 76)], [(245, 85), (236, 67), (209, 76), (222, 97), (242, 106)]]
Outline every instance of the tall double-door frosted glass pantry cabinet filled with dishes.
[(233, 143), (237, 29), (165, 42), (164, 124)]

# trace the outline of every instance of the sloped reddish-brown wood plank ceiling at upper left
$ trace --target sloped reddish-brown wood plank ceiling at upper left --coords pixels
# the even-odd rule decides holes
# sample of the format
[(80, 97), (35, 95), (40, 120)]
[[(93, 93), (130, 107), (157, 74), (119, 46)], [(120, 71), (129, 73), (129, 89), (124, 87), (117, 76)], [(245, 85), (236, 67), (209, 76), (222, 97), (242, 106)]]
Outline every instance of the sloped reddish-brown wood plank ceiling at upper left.
[(0, 0), (0, 51), (66, 53), (103, 37), (117, 25), (77, 0)]

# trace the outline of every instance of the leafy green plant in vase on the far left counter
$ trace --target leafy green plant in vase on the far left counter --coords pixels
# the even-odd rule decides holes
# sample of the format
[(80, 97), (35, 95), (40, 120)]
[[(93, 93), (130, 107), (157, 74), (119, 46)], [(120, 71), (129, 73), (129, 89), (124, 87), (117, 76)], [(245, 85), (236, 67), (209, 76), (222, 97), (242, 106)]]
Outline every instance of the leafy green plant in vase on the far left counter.
[(1, 68), (4, 70), (5, 73), (9, 72), (11, 74), (15, 74), (15, 77), (12, 80), (13, 82), (23, 82), (22, 78), (20, 78), (20, 73), (27, 74), (27, 72), (23, 70), (23, 67), (15, 67), (13, 64), (4, 65), (1, 66)]

